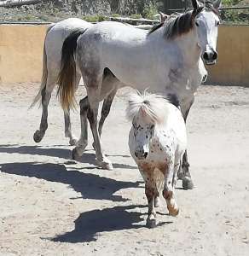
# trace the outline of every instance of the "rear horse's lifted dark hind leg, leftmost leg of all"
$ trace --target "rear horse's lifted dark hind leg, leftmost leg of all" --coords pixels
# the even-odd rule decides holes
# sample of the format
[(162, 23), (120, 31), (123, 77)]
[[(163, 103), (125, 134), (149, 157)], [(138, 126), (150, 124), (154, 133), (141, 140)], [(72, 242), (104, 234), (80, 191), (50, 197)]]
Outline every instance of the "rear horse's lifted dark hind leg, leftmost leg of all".
[(52, 81), (51, 78), (48, 78), (47, 84), (42, 90), (43, 113), (42, 113), (40, 128), (33, 135), (33, 139), (36, 143), (39, 143), (43, 139), (45, 132), (48, 129), (48, 105), (51, 98), (51, 92), (54, 88), (55, 88), (54, 79)]

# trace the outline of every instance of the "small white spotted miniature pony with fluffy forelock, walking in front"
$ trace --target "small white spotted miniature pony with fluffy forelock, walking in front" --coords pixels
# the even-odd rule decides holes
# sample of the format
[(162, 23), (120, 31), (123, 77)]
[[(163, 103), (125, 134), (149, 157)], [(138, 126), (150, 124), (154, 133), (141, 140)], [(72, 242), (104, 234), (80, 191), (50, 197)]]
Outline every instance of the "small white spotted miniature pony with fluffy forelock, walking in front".
[(156, 225), (154, 207), (161, 192), (170, 215), (179, 212), (174, 189), (187, 147), (186, 126), (177, 107), (163, 96), (146, 91), (130, 95), (126, 113), (132, 120), (130, 154), (145, 182), (147, 226), (151, 228)]

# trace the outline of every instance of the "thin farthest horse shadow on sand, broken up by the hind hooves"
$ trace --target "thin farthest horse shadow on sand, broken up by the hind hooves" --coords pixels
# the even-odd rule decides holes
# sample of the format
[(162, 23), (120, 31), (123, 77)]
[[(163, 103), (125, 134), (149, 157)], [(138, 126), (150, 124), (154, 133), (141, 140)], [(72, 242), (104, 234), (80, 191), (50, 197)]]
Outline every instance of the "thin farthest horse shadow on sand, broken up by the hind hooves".
[[(86, 150), (84, 154), (78, 159), (78, 162), (90, 165), (96, 165), (96, 154), (90, 153), (90, 150)], [(32, 154), (32, 155), (47, 155), (50, 157), (58, 157), (61, 159), (71, 160), (72, 150), (67, 148), (46, 148), (40, 146), (18, 146), (18, 145), (0, 145), (0, 153), (8, 154)], [(130, 155), (113, 155), (113, 157), (125, 157), (130, 158)], [(95, 167), (87, 167), (85, 169), (94, 169)], [(97, 168), (97, 167), (96, 167)], [(116, 169), (137, 169), (136, 166), (130, 166), (128, 164), (113, 163), (113, 168)]]

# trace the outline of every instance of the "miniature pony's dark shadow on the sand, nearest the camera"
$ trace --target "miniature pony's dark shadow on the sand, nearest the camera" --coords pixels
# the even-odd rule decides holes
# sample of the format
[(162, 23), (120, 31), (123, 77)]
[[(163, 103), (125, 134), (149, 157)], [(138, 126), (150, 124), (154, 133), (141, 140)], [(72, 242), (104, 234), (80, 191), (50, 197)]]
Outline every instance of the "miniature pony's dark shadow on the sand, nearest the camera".
[(143, 224), (137, 224), (144, 220), (142, 213), (127, 212), (136, 207), (147, 206), (113, 207), (83, 212), (74, 221), (74, 230), (55, 236), (51, 240), (71, 243), (96, 241), (96, 235), (100, 232), (143, 228)]

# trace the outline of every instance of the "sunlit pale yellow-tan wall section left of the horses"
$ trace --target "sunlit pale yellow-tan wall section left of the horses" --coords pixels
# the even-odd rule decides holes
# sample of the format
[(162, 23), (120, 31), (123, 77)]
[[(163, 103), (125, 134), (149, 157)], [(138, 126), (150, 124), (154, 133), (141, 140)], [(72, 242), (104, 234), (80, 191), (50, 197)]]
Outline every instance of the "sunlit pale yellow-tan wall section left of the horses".
[(0, 84), (40, 81), (47, 27), (0, 25)]

